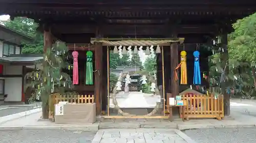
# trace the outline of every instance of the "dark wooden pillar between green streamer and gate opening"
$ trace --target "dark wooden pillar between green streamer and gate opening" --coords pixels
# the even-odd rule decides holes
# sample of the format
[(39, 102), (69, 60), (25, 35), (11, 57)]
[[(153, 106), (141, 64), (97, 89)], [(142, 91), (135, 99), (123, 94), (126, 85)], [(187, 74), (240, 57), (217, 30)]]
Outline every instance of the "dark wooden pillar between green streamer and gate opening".
[[(96, 114), (101, 113), (101, 97), (102, 97), (102, 43), (95, 43), (95, 89), (94, 96), (96, 102)], [(105, 69), (106, 70), (106, 69)]]

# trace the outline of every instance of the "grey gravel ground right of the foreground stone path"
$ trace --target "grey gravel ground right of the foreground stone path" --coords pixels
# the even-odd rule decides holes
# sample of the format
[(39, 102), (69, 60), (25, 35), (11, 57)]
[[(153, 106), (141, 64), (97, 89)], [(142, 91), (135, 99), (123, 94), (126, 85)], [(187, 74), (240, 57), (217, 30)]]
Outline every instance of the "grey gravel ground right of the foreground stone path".
[(256, 128), (195, 129), (184, 131), (197, 143), (255, 143)]

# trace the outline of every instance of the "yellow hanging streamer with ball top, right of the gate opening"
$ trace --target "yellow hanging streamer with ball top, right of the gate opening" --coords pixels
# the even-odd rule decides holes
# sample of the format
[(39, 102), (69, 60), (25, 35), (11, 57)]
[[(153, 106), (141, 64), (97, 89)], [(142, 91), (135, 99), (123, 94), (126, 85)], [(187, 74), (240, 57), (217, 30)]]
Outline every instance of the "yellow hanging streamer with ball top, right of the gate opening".
[(180, 84), (187, 84), (187, 62), (186, 62), (186, 51), (180, 52), (180, 64), (175, 69), (175, 78), (178, 80), (178, 73), (177, 70), (181, 69), (181, 80)]

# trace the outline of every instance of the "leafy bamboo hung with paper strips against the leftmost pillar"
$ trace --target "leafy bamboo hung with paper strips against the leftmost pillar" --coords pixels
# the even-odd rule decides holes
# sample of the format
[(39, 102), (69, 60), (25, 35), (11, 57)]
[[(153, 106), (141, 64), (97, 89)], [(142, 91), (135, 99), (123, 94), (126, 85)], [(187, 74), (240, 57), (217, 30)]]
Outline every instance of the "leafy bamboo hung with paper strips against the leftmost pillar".
[[(49, 118), (49, 105), (52, 105), (49, 104), (50, 95), (53, 93), (67, 94), (66, 91), (72, 88), (70, 75), (61, 71), (69, 67), (69, 63), (65, 62), (67, 53), (66, 44), (57, 41), (44, 53), (44, 69), (27, 73), (25, 76), (26, 87), (35, 88), (36, 96), (42, 100), (43, 119)], [(50, 106), (50, 108), (53, 107)]]

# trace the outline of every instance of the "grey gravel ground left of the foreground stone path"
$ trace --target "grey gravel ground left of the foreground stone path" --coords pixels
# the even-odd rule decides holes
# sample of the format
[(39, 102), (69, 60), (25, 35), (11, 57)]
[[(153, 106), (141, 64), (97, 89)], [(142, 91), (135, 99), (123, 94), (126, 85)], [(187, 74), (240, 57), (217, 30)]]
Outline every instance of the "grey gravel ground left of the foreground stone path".
[(0, 130), (0, 143), (91, 143), (95, 132), (66, 130)]

